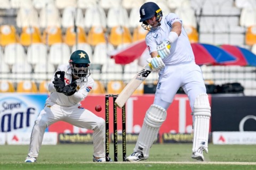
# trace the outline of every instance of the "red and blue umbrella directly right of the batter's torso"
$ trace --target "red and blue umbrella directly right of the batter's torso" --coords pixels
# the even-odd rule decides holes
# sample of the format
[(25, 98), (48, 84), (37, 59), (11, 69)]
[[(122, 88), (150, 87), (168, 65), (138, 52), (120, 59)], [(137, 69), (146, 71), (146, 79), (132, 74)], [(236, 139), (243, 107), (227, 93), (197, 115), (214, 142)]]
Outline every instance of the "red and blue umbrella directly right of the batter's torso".
[(219, 65), (226, 62), (236, 61), (236, 57), (218, 46), (192, 43), (191, 47), (195, 55), (196, 64), (198, 65)]

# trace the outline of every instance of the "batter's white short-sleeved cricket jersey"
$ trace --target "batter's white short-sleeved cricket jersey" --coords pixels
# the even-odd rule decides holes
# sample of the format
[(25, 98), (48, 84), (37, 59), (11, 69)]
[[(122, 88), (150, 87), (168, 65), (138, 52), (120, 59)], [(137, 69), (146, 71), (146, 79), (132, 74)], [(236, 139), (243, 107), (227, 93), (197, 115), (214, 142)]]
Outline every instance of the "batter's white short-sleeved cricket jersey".
[[(154, 31), (148, 32), (146, 36), (146, 44), (149, 53), (156, 52), (157, 45), (161, 44), (164, 40), (168, 40), (168, 35), (171, 32), (172, 24), (182, 20), (174, 13), (169, 13), (163, 16), (161, 25)], [(195, 56), (190, 45), (187, 33), (182, 27), (179, 38), (171, 44), (171, 54), (164, 58), (165, 65), (173, 65), (179, 63), (186, 63), (195, 61)]]

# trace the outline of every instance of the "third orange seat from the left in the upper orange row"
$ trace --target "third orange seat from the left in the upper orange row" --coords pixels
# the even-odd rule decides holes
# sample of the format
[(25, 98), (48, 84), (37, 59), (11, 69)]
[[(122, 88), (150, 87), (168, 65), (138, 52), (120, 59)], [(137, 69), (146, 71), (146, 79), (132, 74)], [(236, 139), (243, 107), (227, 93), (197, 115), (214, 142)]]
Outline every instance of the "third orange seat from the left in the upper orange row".
[(47, 27), (43, 31), (42, 42), (47, 46), (51, 46), (55, 43), (62, 43), (61, 28), (56, 26)]

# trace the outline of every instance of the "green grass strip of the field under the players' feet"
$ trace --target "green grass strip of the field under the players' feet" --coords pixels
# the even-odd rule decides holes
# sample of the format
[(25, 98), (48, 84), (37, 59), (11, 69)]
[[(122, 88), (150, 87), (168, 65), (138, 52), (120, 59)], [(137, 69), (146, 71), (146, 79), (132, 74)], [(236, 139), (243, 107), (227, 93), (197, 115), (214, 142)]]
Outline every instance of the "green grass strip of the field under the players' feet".
[[(110, 157), (113, 158), (111, 147)], [(133, 147), (127, 145), (127, 155), (132, 153)], [(42, 146), (37, 163), (28, 164), (23, 163), (28, 146), (5, 145), (0, 146), (0, 169), (256, 169), (255, 145), (210, 145), (203, 163), (190, 158), (191, 147), (191, 143), (153, 145), (148, 160), (123, 163), (122, 146), (118, 145), (120, 162), (92, 163), (92, 145)], [(244, 162), (254, 165), (238, 165)]]

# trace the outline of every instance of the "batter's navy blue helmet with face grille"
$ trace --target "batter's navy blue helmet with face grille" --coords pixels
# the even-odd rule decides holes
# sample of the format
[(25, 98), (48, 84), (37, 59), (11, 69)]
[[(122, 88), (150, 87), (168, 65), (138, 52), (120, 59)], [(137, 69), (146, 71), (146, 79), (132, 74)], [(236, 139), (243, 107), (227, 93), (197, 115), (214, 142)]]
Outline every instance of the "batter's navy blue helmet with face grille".
[(160, 20), (163, 16), (163, 12), (159, 6), (154, 2), (146, 2), (140, 7), (140, 22), (142, 22), (141, 26), (148, 31), (154, 31), (157, 27), (151, 28), (151, 26), (147, 23), (147, 20), (156, 16), (156, 20), (158, 21), (157, 27), (160, 25)]

